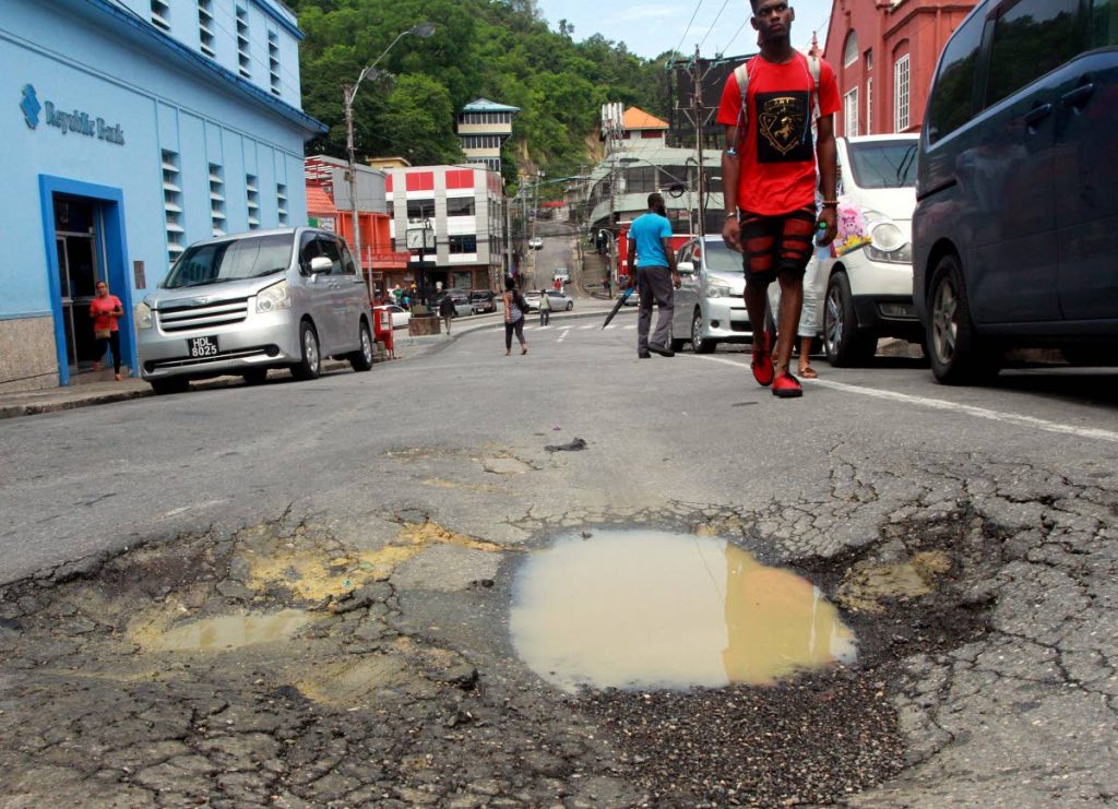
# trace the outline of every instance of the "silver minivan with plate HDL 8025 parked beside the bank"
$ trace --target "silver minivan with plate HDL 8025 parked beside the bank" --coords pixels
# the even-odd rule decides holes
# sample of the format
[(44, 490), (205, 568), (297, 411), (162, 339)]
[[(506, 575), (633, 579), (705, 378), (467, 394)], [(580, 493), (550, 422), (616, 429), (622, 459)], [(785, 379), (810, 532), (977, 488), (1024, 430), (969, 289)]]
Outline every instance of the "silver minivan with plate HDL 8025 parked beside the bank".
[(345, 242), (313, 228), (198, 241), (136, 308), (140, 374), (157, 393), (269, 368), (315, 379), (323, 356), (372, 368), (369, 295)]

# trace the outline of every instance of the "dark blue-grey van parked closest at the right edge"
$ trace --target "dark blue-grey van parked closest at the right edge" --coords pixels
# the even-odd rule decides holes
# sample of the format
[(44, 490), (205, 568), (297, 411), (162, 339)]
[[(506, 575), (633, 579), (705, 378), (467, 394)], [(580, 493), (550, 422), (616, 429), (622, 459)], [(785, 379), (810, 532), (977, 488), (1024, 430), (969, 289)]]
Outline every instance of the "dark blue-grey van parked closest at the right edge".
[(940, 382), (1118, 353), (1118, 0), (985, 0), (920, 136), (913, 301)]

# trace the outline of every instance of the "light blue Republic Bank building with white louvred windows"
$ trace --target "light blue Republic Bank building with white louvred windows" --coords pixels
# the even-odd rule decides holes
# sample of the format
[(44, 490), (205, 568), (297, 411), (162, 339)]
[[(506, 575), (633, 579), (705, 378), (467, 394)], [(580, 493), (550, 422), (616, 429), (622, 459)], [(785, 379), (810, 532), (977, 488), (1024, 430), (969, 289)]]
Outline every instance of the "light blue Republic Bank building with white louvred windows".
[[(295, 16), (277, 0), (3, 0), (0, 391), (95, 356), (98, 279), (126, 312), (183, 248), (306, 221)], [(132, 317), (120, 321), (135, 368)]]

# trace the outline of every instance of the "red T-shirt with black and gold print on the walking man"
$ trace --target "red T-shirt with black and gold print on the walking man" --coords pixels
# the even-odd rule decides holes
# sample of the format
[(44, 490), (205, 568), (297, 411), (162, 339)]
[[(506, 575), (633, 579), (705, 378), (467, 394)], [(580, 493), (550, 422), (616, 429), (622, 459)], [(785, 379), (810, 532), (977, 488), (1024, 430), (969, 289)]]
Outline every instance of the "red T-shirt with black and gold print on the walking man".
[[(755, 56), (749, 70), (749, 121), (738, 136), (738, 208), (775, 217), (815, 207), (815, 144), (812, 115), (815, 80), (807, 57), (796, 53), (777, 65)], [(839, 112), (834, 70), (821, 60), (819, 115)], [(722, 89), (718, 123), (735, 126), (741, 114), (741, 89), (731, 73)]]

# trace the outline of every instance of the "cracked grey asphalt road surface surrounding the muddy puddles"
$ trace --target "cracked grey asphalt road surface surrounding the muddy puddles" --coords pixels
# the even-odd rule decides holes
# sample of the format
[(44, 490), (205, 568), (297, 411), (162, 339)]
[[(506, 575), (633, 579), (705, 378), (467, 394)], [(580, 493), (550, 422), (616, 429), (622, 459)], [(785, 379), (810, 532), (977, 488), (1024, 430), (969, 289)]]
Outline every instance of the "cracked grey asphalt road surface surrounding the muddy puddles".
[[(903, 363), (824, 367), (908, 398), (788, 403), (735, 352), (642, 362), (632, 332), (528, 336), (525, 358), (485, 332), (372, 374), (0, 425), (0, 802), (1118, 794), (1118, 442), (1088, 437), (1115, 410), (1084, 393), (1112, 375), (953, 391)], [(512, 578), (603, 525), (792, 567), (844, 610), (858, 664), (556, 692), (512, 655)], [(280, 643), (167, 648), (184, 624), (278, 610), (303, 621)]]

